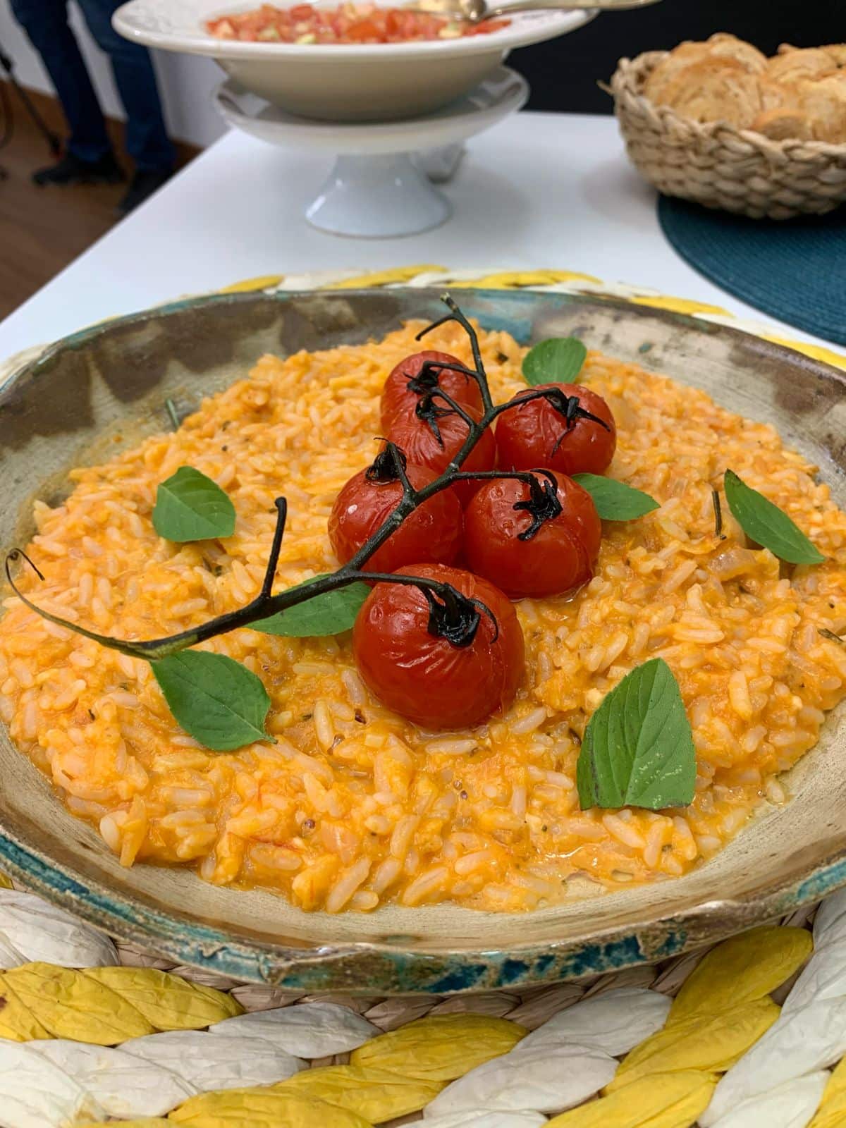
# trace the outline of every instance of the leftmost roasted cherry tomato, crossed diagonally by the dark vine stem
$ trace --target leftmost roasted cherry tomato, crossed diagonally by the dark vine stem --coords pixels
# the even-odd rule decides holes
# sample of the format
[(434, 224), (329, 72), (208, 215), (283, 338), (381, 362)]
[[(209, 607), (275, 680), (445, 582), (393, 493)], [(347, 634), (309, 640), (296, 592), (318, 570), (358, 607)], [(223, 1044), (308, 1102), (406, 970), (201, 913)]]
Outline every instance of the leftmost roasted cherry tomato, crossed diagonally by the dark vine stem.
[[(407, 465), (405, 472), (415, 490), (437, 477), (425, 466)], [(350, 478), (332, 506), (329, 540), (342, 564), (381, 528), (402, 500), (396, 462), (388, 450), (382, 450), (372, 466)], [(417, 505), (363, 567), (368, 572), (396, 572), (413, 561), (451, 564), (461, 548), (462, 532), (461, 503), (453, 488), (442, 490)]]

